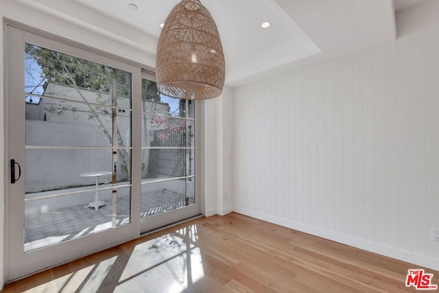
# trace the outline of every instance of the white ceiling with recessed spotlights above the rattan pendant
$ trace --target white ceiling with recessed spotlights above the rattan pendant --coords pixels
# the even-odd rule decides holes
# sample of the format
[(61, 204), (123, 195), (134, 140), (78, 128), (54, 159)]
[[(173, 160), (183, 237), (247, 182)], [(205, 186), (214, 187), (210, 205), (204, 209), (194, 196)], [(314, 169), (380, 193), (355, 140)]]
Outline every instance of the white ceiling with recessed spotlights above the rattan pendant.
[[(16, 0), (147, 54), (179, 0)], [(394, 2), (393, 2), (394, 1)], [(394, 12), (425, 0), (201, 0), (217, 24), (226, 84), (237, 86), (396, 38)], [(132, 10), (130, 4), (137, 6)], [(271, 26), (262, 29), (261, 23)], [(154, 66), (154, 65), (152, 65)]]

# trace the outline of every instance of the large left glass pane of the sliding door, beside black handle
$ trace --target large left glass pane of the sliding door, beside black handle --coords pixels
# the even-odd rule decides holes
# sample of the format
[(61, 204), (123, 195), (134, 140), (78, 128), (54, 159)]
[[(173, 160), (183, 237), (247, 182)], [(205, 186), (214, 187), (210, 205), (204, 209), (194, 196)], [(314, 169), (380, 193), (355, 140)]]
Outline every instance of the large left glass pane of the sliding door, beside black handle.
[(24, 252), (131, 221), (131, 73), (25, 44)]

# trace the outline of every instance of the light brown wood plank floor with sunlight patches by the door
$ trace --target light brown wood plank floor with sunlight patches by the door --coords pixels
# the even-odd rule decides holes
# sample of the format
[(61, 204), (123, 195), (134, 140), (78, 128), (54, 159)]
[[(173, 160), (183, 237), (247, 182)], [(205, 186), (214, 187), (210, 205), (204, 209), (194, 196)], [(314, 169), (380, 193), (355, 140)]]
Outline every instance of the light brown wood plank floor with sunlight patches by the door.
[[(416, 292), (420, 268), (237, 213), (200, 218), (5, 285), (3, 292)], [(433, 284), (439, 284), (439, 272)]]

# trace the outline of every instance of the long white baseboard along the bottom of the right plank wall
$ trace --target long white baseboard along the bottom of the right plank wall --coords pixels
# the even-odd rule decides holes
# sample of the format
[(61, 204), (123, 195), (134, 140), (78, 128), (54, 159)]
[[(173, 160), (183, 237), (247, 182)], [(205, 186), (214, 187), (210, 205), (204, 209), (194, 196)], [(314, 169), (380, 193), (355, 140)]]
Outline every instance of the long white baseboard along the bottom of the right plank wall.
[(328, 231), (315, 226), (301, 224), (298, 222), (294, 222), (292, 220), (278, 218), (276, 216), (268, 215), (266, 213), (261, 213), (259, 211), (253, 211), (251, 209), (233, 207), (233, 211), (237, 213), (241, 213), (243, 215), (248, 215), (252, 218), (257, 218), (259, 220), (267, 221), (273, 224), (278, 224), (280, 226), (292, 228), (297, 231), (302, 231), (311, 235), (316, 235), (318, 237), (333, 240), (335, 242), (364, 249), (372, 253), (377, 253), (379, 255), (384, 255), (386, 257), (392, 257), (393, 259), (399, 259), (401, 261), (413, 263), (414, 265), (423, 266), (425, 268), (430, 268), (432, 270), (439, 270), (439, 259), (434, 259), (431, 257), (427, 257), (425, 255), (417, 255), (416, 253), (412, 253), (410, 251), (401, 250), (399, 248), (394, 248), (390, 246), (385, 246), (383, 244), (377, 244), (375, 242), (369, 242), (364, 239), (359, 239), (356, 237), (335, 233), (333, 231)]

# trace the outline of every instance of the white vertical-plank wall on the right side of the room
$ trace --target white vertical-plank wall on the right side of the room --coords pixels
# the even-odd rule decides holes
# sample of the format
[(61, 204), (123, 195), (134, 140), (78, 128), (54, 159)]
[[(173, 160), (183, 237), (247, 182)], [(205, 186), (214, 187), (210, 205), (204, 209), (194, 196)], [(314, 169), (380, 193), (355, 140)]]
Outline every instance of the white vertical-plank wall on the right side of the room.
[(234, 89), (234, 210), (439, 270), (439, 1), (397, 25)]

